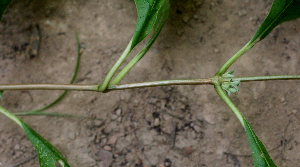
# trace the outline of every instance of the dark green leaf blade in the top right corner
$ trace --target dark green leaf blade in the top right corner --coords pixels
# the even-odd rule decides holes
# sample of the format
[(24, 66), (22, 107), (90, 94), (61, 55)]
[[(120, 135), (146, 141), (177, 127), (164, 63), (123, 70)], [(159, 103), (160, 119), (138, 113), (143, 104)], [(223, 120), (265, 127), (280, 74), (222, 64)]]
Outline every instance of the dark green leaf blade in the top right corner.
[(277, 25), (300, 17), (300, 0), (274, 0), (270, 12), (250, 43), (264, 39)]

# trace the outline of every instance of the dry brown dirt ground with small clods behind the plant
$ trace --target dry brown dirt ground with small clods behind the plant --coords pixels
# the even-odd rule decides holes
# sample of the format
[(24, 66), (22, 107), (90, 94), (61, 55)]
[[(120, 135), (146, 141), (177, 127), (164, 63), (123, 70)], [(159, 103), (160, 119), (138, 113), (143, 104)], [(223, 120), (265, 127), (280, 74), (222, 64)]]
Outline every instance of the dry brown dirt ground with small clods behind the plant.
[[(250, 40), (271, 0), (172, 0), (171, 13), (147, 55), (122, 83), (207, 78)], [(129, 42), (133, 0), (13, 0), (0, 23), (0, 83), (100, 84)], [(35, 25), (38, 57), (27, 56)], [(278, 26), (232, 67), (236, 76), (300, 74), (300, 20)], [(141, 48), (143, 44), (137, 48)], [(132, 58), (135, 49), (130, 56)], [(128, 62), (128, 61), (126, 61)], [(242, 83), (230, 98), (278, 166), (300, 164), (299, 81)], [(5, 91), (11, 112), (37, 109), (61, 91)], [(99, 120), (22, 116), (72, 167), (253, 166), (245, 132), (212, 86), (69, 92), (46, 112)], [(171, 133), (177, 123), (175, 145)], [(0, 116), (0, 166), (37, 167), (24, 132)]]

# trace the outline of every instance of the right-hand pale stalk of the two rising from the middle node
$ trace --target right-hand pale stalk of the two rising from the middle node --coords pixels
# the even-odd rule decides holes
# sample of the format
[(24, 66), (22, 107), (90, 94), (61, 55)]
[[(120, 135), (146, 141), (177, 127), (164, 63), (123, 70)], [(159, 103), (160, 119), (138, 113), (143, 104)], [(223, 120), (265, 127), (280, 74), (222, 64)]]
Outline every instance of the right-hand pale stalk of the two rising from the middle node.
[[(151, 45), (150, 45), (151, 46)], [(116, 78), (110, 83), (111, 85), (118, 84), (124, 76), (130, 71), (130, 69), (139, 61), (149, 50), (149, 47), (144, 47), (123, 69), (122, 71), (116, 76)]]

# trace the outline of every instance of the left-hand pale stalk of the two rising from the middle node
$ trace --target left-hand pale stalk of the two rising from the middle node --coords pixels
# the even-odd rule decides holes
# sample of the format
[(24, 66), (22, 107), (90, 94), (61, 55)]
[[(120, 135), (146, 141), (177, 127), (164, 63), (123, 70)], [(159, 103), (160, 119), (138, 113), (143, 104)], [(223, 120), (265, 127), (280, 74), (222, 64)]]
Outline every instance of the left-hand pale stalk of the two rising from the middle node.
[(118, 61), (114, 64), (114, 66), (109, 70), (106, 77), (104, 78), (102, 84), (98, 85), (98, 91), (103, 92), (108, 87), (108, 84), (110, 83), (112, 77), (115, 75), (117, 70), (120, 68), (121, 64), (124, 62), (124, 60), (127, 58), (131, 51), (131, 44), (132, 39), (130, 40), (129, 44), (127, 45), (126, 49), (118, 59)]

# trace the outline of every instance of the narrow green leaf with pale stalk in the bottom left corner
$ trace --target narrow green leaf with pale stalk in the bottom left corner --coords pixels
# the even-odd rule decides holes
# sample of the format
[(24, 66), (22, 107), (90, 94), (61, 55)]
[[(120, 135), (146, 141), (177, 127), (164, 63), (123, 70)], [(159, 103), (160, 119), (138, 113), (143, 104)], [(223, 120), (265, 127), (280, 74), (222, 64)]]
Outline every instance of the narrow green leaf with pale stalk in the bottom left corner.
[(56, 162), (63, 167), (69, 167), (62, 154), (41, 135), (25, 124), (20, 118), (16, 117), (1, 106), (0, 113), (13, 120), (25, 131), (28, 139), (37, 151), (40, 167), (55, 167)]

